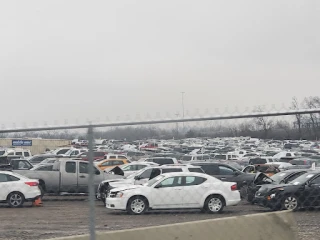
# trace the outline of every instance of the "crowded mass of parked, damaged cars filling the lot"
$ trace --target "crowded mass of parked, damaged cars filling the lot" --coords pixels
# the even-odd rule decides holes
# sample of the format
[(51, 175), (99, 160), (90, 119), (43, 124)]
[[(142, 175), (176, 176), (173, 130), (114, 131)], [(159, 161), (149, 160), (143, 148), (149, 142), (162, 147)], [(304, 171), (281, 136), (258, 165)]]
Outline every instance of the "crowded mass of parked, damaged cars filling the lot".
[[(274, 146), (274, 142), (263, 141), (264, 150), (261, 150), (262, 141), (256, 139), (225, 139), (224, 145), (219, 139), (215, 146), (208, 140), (196, 139), (197, 144), (190, 143), (190, 139), (184, 141), (191, 146), (188, 152), (185, 145), (178, 150), (168, 142), (137, 151), (119, 142), (97, 146), (95, 152), (101, 155), (94, 159), (97, 199), (107, 208), (133, 214), (172, 208), (220, 212), (225, 206), (239, 203), (240, 197), (275, 210), (320, 204), (319, 197), (315, 196), (319, 187), (316, 168), (319, 151), (316, 149), (309, 152), (300, 148), (284, 149)], [(180, 146), (184, 143), (180, 142)], [(64, 150), (65, 153), (59, 152)], [(304, 158), (303, 151), (314, 161), (294, 164), (293, 161)], [(133, 152), (138, 159), (132, 157)], [(73, 153), (77, 155), (73, 157)], [(28, 162), (31, 168), (21, 168), (21, 162)], [(88, 192), (88, 152), (83, 146), (14, 159), (11, 165), (11, 174), (36, 179), (31, 182), (37, 182), (41, 195)], [(300, 179), (303, 177), (304, 180)], [(1, 201), (8, 201), (8, 196)]]

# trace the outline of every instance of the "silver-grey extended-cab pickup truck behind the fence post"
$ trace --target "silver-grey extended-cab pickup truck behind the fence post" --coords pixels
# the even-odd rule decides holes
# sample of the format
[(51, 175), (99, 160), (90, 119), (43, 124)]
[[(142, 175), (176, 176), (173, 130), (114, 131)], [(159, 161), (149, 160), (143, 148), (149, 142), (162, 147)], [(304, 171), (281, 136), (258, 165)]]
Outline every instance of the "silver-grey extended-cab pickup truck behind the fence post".
[[(89, 163), (82, 160), (58, 159), (52, 171), (14, 170), (18, 174), (39, 180), (39, 186), (45, 193), (88, 193)], [(106, 177), (112, 178), (94, 167), (94, 185), (98, 187)]]

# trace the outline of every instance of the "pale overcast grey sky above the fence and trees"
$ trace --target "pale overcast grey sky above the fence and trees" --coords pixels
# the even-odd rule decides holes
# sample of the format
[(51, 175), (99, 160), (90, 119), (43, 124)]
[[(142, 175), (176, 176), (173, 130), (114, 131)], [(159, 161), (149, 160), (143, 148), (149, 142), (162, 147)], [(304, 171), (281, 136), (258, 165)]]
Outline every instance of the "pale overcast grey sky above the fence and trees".
[(0, 123), (289, 105), (319, 95), (319, 23), (318, 0), (1, 1)]

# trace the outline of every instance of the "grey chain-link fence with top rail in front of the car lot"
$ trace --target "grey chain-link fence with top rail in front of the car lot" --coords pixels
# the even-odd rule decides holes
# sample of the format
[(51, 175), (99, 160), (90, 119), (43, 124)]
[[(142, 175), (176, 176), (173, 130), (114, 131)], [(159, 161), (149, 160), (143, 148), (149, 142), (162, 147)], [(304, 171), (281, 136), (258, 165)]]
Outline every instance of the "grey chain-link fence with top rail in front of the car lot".
[[(89, 229), (94, 240), (97, 230), (318, 207), (319, 123), (320, 108), (258, 107), (2, 126), (0, 201), (11, 207), (4, 209), (7, 214), (44, 201), (41, 224), (47, 221), (52, 234), (39, 237), (34, 228), (23, 239)], [(21, 219), (38, 211), (18, 209)], [(74, 229), (55, 234), (57, 222)], [(6, 230), (2, 234), (19, 239)]]

